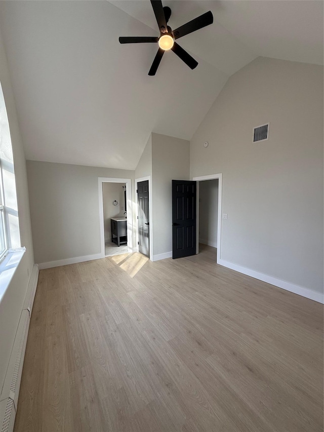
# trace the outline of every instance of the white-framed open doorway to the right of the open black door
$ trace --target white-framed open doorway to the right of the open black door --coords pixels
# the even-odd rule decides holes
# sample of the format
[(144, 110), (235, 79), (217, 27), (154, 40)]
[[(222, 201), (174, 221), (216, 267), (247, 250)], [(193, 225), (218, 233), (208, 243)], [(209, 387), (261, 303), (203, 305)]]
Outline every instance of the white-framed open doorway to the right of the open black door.
[(222, 174), (194, 177), (197, 181), (196, 253), (199, 248), (214, 248), (216, 262), (220, 260)]

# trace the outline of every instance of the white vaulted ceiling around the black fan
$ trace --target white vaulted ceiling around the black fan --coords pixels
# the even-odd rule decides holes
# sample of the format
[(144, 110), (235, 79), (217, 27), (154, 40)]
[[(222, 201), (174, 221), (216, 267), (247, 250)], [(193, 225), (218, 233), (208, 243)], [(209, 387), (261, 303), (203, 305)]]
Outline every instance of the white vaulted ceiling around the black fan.
[(322, 64), (321, 1), (165, 1), (173, 29), (211, 10), (148, 76), (158, 35), (150, 2), (2, 1), (2, 33), (26, 158), (135, 169), (153, 131), (190, 139), (228, 77), (258, 56)]

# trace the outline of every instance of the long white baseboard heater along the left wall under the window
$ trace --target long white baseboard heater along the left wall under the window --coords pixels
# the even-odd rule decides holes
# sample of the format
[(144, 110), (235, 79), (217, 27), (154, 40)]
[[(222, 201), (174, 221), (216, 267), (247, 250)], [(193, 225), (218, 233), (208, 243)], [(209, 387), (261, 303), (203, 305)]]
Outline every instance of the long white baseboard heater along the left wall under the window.
[(12, 432), (18, 405), (19, 388), (27, 344), (31, 310), (38, 281), (38, 266), (35, 264), (30, 275), (27, 293), (12, 348), (3, 390), (0, 397), (1, 432)]

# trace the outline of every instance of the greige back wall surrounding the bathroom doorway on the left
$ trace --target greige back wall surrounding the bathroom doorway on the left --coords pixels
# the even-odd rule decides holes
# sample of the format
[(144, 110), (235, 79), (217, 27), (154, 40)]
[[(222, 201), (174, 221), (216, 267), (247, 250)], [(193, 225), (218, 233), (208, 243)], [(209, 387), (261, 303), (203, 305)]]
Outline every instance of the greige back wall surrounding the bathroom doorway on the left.
[(27, 161), (27, 173), (35, 262), (96, 258), (101, 253), (98, 177), (134, 180), (135, 172)]

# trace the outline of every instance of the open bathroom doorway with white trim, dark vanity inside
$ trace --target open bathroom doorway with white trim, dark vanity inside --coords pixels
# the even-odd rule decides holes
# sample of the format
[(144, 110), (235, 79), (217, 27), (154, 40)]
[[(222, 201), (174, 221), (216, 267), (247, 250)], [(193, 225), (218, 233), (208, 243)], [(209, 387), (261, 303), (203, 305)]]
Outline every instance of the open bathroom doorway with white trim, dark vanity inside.
[(99, 213), (102, 257), (133, 250), (130, 179), (99, 178)]

